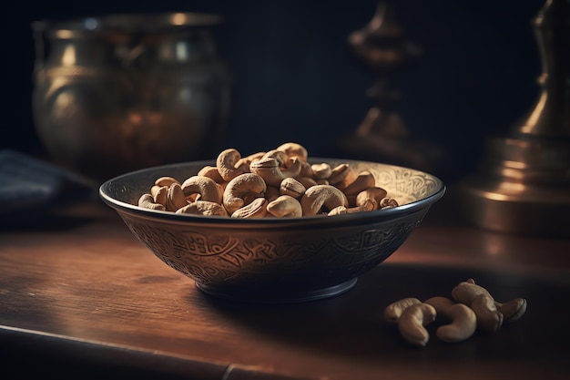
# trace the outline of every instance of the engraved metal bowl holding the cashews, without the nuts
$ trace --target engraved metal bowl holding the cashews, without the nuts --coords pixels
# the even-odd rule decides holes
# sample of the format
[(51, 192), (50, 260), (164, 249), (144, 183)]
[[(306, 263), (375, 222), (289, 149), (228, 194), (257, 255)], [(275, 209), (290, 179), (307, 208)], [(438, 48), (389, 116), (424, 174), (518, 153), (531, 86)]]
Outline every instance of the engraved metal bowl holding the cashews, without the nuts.
[(351, 159), (309, 158), (331, 167), (372, 172), (399, 206), (335, 216), (236, 219), (138, 207), (163, 176), (185, 180), (215, 161), (162, 165), (104, 182), (99, 195), (158, 259), (219, 298), (295, 303), (345, 293), (385, 261), (443, 197), (442, 180), (400, 166)]

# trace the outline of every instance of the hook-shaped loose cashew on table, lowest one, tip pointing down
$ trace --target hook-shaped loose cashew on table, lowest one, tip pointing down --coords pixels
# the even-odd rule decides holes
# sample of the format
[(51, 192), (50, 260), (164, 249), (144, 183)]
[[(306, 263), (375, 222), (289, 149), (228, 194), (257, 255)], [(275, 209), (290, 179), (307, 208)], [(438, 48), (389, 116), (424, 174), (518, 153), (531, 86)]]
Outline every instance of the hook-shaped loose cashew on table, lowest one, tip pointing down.
[(400, 334), (411, 344), (425, 346), (430, 340), (430, 334), (423, 326), (432, 323), (436, 315), (435, 308), (429, 303), (412, 304), (398, 319)]

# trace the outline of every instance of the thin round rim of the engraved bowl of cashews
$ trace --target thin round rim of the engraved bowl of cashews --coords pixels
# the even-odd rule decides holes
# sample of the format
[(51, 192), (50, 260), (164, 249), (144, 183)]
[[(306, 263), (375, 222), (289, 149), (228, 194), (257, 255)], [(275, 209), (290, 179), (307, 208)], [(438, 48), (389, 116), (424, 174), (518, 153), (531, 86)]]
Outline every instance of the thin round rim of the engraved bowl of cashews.
[[(127, 213), (130, 215), (134, 215), (137, 217), (142, 217), (144, 219), (149, 220), (161, 220), (161, 221), (168, 221), (168, 222), (175, 222), (179, 224), (187, 224), (187, 223), (199, 223), (203, 225), (209, 224), (216, 224), (221, 226), (222, 224), (234, 226), (247, 226), (251, 227), (254, 225), (263, 225), (267, 226), (276, 226), (276, 227), (284, 227), (284, 226), (299, 226), (300, 224), (304, 223), (314, 223), (315, 221), (327, 221), (324, 224), (329, 225), (331, 222), (336, 224), (336, 221), (344, 221), (348, 223), (357, 222), (358, 224), (367, 223), (370, 220), (374, 221), (384, 221), (384, 220), (392, 220), (393, 215), (396, 214), (398, 216), (405, 216), (412, 212), (422, 210), (426, 207), (430, 207), (434, 202), (440, 200), (443, 197), (443, 194), (446, 192), (447, 188), (443, 183), (443, 180), (439, 179), (438, 177), (434, 176), (432, 173), (420, 170), (420, 169), (413, 169), (405, 166), (400, 165), (392, 165), (389, 163), (382, 163), (382, 162), (373, 162), (369, 160), (358, 160), (358, 159), (338, 159), (338, 158), (322, 158), (322, 157), (309, 157), (311, 161), (335, 161), (335, 162), (347, 162), (347, 163), (371, 163), (374, 165), (384, 165), (387, 167), (397, 168), (397, 169), (404, 169), (404, 170), (413, 170), (423, 174), (427, 174), (430, 176), (434, 182), (436, 182), (437, 187), (433, 194), (422, 198), (421, 200), (413, 200), (409, 203), (405, 203), (401, 206), (393, 207), (391, 209), (385, 210), (377, 210), (377, 211), (366, 211), (366, 212), (355, 212), (350, 214), (340, 214), (335, 215), (334, 217), (329, 217), (326, 214), (315, 215), (315, 216), (301, 216), (301, 217), (290, 217), (290, 218), (250, 218), (250, 219), (243, 219), (243, 218), (230, 218), (227, 216), (204, 216), (204, 215), (192, 215), (192, 214), (176, 214), (171, 211), (158, 211), (158, 210), (150, 210), (144, 209), (139, 207), (138, 205), (131, 204), (122, 200), (117, 200), (113, 198), (109, 192), (108, 188), (118, 180), (125, 180), (128, 177), (135, 176), (140, 173), (161, 170), (165, 171), (165, 175), (168, 173), (169, 168), (178, 168), (180, 166), (185, 165), (197, 165), (197, 166), (205, 166), (205, 165), (212, 165), (215, 163), (214, 159), (206, 159), (206, 160), (196, 160), (196, 161), (184, 161), (184, 162), (176, 162), (166, 165), (158, 165), (153, 167), (148, 167), (144, 169), (137, 169), (133, 171), (129, 171), (127, 173), (118, 175), (113, 177), (109, 180), (104, 181), (99, 186), (99, 197), (107, 206), (115, 209), (119, 213)], [(344, 224), (344, 223), (341, 223)]]

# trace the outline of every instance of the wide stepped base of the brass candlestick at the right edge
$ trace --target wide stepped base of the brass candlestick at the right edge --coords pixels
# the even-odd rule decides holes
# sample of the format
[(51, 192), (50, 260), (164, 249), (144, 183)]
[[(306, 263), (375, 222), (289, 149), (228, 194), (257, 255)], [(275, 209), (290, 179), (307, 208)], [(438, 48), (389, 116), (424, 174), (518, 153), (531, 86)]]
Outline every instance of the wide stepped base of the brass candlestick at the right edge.
[(490, 139), (487, 149), (482, 173), (461, 183), (464, 216), (489, 230), (570, 236), (568, 141)]

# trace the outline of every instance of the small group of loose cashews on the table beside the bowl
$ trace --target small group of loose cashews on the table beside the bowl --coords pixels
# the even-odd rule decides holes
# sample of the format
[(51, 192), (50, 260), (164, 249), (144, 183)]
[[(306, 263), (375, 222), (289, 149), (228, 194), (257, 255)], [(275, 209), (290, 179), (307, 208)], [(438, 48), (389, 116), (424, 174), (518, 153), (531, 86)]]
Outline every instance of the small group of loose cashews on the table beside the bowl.
[(478, 328), (494, 333), (526, 312), (524, 298), (498, 303), (473, 279), (455, 286), (452, 298), (436, 296), (423, 302), (413, 297), (404, 298), (384, 309), (384, 319), (397, 324), (400, 334), (410, 344), (425, 346), (430, 335), (424, 326), (440, 317), (443, 324), (436, 329), (437, 337), (443, 342), (456, 343), (471, 337)]

